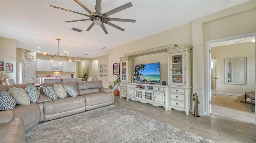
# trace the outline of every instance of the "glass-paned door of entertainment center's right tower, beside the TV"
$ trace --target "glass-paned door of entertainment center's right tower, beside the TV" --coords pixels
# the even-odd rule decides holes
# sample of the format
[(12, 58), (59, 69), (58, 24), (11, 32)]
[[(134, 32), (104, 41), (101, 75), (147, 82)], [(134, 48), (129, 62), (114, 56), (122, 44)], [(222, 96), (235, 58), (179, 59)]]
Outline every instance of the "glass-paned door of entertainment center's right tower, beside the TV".
[(176, 85), (184, 85), (184, 53), (172, 54), (171, 56), (170, 83)]

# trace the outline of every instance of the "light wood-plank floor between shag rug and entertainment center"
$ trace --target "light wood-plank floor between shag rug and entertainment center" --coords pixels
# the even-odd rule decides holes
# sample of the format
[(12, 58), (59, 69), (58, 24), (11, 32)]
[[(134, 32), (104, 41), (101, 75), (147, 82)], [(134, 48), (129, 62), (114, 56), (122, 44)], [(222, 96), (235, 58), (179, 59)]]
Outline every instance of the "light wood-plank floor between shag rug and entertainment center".
[(182, 111), (174, 109), (165, 111), (163, 107), (126, 100), (120, 96), (115, 96), (114, 105), (216, 143), (256, 143), (256, 126), (254, 124), (214, 115), (194, 117), (190, 113), (186, 116)]

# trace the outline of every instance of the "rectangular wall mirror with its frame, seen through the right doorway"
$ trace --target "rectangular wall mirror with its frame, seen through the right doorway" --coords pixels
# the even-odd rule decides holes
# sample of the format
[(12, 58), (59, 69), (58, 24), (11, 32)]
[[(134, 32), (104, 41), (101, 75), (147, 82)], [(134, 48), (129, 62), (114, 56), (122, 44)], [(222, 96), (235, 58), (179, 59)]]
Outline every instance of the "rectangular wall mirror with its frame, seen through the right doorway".
[(247, 84), (247, 58), (225, 59), (225, 84)]

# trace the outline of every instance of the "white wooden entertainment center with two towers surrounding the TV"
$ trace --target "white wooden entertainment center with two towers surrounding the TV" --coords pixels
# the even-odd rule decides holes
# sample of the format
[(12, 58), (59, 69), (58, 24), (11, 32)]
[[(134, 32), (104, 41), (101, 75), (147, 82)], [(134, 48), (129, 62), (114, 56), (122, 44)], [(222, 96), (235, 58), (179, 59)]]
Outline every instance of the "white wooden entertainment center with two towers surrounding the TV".
[[(165, 110), (191, 109), (191, 50), (190, 45), (176, 44), (124, 55), (120, 58), (120, 98), (163, 106)], [(168, 85), (156, 82), (134, 82), (134, 57), (168, 52)]]

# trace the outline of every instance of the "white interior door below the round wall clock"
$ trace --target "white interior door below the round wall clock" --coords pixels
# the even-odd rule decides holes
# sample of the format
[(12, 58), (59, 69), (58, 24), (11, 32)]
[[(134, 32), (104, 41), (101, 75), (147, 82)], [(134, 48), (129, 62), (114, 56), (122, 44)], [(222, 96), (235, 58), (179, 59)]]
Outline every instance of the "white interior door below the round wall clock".
[(24, 61), (24, 83), (35, 83), (34, 81), (34, 62)]

